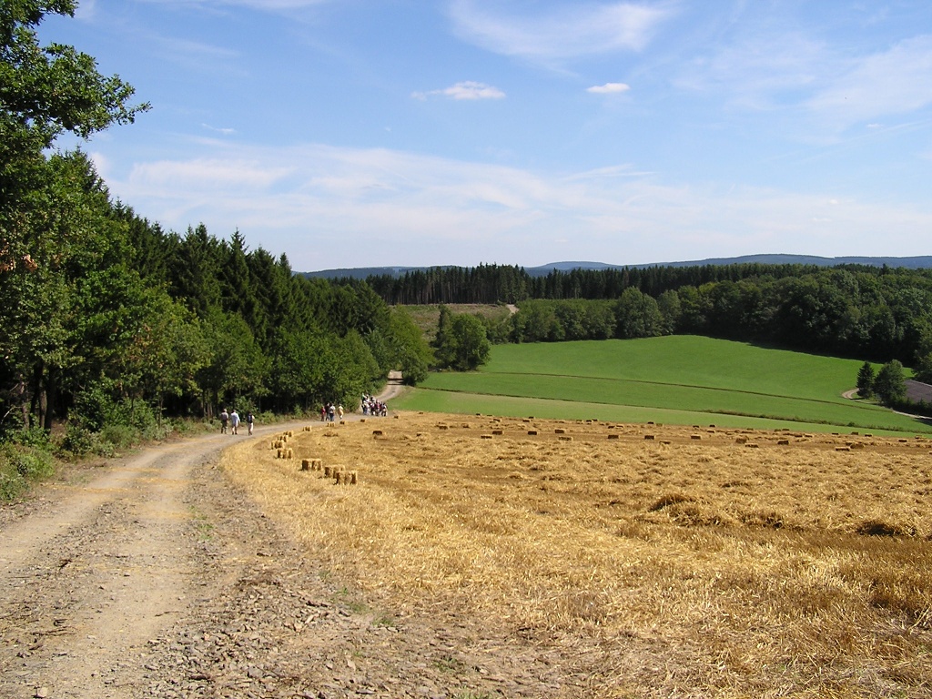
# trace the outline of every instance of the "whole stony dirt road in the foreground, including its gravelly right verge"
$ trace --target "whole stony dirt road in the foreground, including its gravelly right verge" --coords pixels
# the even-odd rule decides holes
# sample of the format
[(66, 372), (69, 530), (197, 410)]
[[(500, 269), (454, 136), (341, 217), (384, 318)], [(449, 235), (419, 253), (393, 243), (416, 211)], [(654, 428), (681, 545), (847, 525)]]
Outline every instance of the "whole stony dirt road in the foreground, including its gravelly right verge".
[(230, 486), (217, 459), (244, 439), (148, 448), (0, 509), (0, 697), (580, 695), (532, 645), (367, 607)]

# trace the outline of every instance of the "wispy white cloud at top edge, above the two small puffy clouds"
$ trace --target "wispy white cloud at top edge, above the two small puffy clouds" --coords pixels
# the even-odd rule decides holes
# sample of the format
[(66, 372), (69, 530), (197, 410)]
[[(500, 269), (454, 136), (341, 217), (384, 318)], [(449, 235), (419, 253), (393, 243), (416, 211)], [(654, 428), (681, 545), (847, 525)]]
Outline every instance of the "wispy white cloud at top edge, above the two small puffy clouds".
[(454, 0), (449, 15), (463, 39), (506, 56), (549, 62), (639, 51), (672, 6), (569, 3), (550, 12), (506, 14), (497, 3)]

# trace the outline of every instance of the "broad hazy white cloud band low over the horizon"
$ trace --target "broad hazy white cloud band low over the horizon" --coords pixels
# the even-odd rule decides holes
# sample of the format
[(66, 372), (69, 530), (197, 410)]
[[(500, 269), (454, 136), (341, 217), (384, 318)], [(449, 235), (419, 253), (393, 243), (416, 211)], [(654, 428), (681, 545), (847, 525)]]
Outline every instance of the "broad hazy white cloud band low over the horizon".
[[(710, 256), (915, 254), (932, 211), (751, 187), (673, 185), (625, 166), (533, 172), (386, 149), (226, 144), (140, 162), (114, 195), (174, 230), (240, 228), (295, 269), (616, 264)], [(817, 225), (816, 225), (817, 223)], [(884, 231), (884, 235), (879, 232)]]

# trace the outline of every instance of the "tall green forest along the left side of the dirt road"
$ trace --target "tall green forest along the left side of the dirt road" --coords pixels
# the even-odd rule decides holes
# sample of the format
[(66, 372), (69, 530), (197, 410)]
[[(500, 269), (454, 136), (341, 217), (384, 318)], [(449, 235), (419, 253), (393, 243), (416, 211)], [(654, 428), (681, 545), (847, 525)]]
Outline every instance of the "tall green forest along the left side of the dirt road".
[[(46, 15), (74, 11), (0, 4), (0, 437), (43, 446), (62, 424), (63, 451), (105, 452), (168, 418), (355, 405), (390, 369), (423, 376), (417, 326), (364, 282), (295, 275), (239, 232), (163, 231), (115, 201), (83, 152), (56, 148), (149, 107), (92, 57), (39, 44)], [(34, 471), (5, 459), (20, 459), (5, 478)]]

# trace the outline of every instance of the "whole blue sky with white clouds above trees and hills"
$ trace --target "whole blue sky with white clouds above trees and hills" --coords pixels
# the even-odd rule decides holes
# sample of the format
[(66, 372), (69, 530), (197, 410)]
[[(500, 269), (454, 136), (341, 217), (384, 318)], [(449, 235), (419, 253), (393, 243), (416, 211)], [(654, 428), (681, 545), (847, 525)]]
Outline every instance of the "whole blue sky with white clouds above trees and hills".
[(79, 0), (114, 199), (295, 271), (932, 254), (928, 0)]

